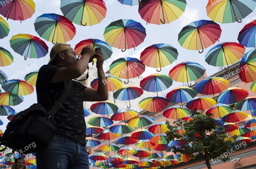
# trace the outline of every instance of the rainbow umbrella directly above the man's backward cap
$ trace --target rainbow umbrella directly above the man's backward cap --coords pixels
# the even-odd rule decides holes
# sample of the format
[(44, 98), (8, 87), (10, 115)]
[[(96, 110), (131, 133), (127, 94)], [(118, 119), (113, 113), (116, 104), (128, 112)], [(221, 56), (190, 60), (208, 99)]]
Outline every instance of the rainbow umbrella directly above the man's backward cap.
[(45, 13), (37, 17), (34, 26), (39, 36), (53, 44), (68, 42), (76, 35), (73, 23), (55, 13)]

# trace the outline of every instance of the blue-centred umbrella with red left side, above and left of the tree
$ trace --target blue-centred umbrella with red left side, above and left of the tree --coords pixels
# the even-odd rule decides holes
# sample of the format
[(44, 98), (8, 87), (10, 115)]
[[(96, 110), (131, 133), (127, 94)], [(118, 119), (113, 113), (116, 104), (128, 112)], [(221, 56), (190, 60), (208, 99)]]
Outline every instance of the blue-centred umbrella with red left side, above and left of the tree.
[(196, 96), (196, 91), (192, 88), (188, 88), (185, 86), (180, 86), (177, 88), (173, 88), (170, 92), (166, 94), (166, 99), (172, 103), (181, 103), (181, 107), (183, 107), (182, 102), (188, 102), (192, 100)]

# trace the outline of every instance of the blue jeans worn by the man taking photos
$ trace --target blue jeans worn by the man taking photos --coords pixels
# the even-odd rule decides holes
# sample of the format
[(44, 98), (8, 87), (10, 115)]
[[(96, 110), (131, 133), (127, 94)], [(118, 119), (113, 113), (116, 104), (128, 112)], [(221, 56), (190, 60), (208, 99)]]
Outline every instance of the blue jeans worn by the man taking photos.
[(84, 145), (54, 134), (50, 147), (36, 152), (37, 169), (89, 169)]

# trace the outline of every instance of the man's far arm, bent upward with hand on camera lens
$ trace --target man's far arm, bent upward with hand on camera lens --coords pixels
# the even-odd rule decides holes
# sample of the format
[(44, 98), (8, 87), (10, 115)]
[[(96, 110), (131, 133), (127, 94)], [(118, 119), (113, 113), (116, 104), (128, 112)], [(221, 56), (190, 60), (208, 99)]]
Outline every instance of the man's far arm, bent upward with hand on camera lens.
[(108, 85), (106, 82), (105, 73), (103, 70), (104, 56), (101, 51), (95, 51), (97, 62), (96, 67), (98, 71), (98, 88), (97, 90), (93, 88), (84, 89), (84, 101), (89, 102), (99, 102), (108, 100)]

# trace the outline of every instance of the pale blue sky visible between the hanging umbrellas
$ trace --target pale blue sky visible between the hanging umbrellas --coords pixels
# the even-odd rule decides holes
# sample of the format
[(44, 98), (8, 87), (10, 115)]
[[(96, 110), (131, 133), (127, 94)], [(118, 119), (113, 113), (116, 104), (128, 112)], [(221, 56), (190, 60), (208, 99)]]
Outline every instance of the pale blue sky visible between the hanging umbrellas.
[[(56, 13), (63, 15), (60, 10), (60, 0), (34, 0), (36, 4), (36, 12), (30, 19), (25, 21), (13, 21), (8, 19), (7, 22), (10, 27), (10, 33), (7, 37), (0, 39), (0, 46), (4, 47), (5, 49), (9, 50), (14, 57), (14, 62), (11, 65), (1, 67), (2, 70), (8, 77), (15, 76), (17, 79), (24, 80), (26, 74), (32, 71), (38, 71), (42, 65), (48, 63), (49, 60), (49, 53), (53, 46), (52, 42), (46, 42), (49, 47), (49, 53), (39, 59), (30, 59), (24, 60), (24, 57), (16, 53), (10, 47), (9, 40), (13, 35), (17, 34), (31, 34), (40, 37), (37, 32), (35, 31), (34, 22), (36, 17), (44, 14), (44, 13)], [(146, 28), (147, 36), (143, 43), (141, 43), (138, 47), (134, 49), (126, 50), (122, 52), (120, 49), (112, 48), (113, 54), (111, 58), (104, 62), (104, 71), (109, 70), (109, 65), (116, 60), (117, 58), (123, 57), (133, 57), (133, 58), (140, 58), (140, 53), (148, 46), (156, 44), (156, 43), (166, 43), (170, 44), (178, 50), (179, 56), (177, 60), (172, 63), (172, 65), (166, 66), (162, 68), (160, 73), (164, 73), (166, 75), (169, 74), (169, 71), (172, 67), (180, 62), (184, 61), (192, 61), (197, 62), (204, 66), (206, 69), (206, 73), (208, 76), (218, 72), (217, 67), (208, 65), (204, 59), (206, 53), (218, 42), (216, 42), (211, 47), (208, 47), (204, 50), (203, 53), (198, 53), (196, 50), (187, 50), (180, 46), (178, 42), (178, 34), (180, 33), (181, 29), (188, 25), (190, 22), (205, 19), (210, 20), (206, 13), (206, 5), (207, 0), (187, 0), (187, 6), (185, 12), (182, 16), (169, 23), (164, 25), (154, 25), (154, 24), (147, 24), (147, 22), (141, 19), (140, 14), (138, 13), (138, 5), (136, 6), (128, 6), (119, 3), (117, 0), (104, 0), (106, 7), (107, 7), (107, 14), (106, 18), (103, 19), (99, 24), (93, 26), (79, 26), (74, 24), (76, 27), (76, 36), (69, 42), (72, 48), (75, 48), (75, 45), (85, 39), (94, 38), (100, 39), (105, 41), (103, 33), (105, 27), (107, 27), (111, 22), (119, 20), (119, 19), (132, 19), (137, 22), (140, 22), (143, 27)], [(228, 24), (220, 24), (222, 29), (222, 33), (220, 36), (220, 42), (238, 42), (237, 36), (239, 31), (244, 27), (246, 23), (251, 22), (252, 20), (256, 19), (256, 12), (252, 12), (249, 16), (243, 19), (242, 23), (228, 23)], [(6, 19), (5, 19), (6, 20)], [(42, 38), (41, 38), (42, 39)], [(246, 52), (252, 48), (246, 48)], [(145, 72), (142, 74), (143, 77), (151, 74), (156, 73), (155, 68), (149, 68), (146, 66)], [(174, 87), (180, 86), (182, 83), (174, 82), (172, 87), (168, 89), (170, 91)], [(1, 89), (4, 92), (3, 89)], [(12, 106), (16, 112), (20, 112), (30, 105), (36, 103), (36, 89), (31, 95), (24, 96), (24, 101), (17, 105)], [(88, 107), (89, 108), (89, 107)], [(0, 117), (0, 119), (4, 122), (4, 125), (0, 126), (2, 131), (5, 130), (7, 123), (9, 122), (6, 117)]]

